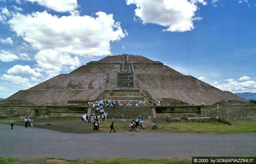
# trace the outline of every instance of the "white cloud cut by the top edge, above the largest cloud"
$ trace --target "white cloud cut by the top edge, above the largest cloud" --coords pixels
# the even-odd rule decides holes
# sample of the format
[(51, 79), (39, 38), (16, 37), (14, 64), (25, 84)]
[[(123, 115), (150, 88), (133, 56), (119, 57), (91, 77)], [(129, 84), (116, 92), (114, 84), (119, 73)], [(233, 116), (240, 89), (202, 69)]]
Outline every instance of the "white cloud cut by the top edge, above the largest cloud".
[(76, 0), (27, 0), (32, 3), (37, 2), (39, 5), (43, 5), (48, 9), (52, 9), (58, 12), (72, 12), (78, 5)]

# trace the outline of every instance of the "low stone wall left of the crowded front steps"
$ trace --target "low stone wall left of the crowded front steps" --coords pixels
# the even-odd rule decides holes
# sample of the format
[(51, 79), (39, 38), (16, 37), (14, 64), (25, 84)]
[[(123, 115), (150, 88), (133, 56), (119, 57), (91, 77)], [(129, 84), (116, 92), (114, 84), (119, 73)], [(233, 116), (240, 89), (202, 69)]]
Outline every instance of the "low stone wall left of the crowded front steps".
[(84, 106), (0, 106), (0, 118), (47, 118), (53, 116), (81, 116), (87, 113)]

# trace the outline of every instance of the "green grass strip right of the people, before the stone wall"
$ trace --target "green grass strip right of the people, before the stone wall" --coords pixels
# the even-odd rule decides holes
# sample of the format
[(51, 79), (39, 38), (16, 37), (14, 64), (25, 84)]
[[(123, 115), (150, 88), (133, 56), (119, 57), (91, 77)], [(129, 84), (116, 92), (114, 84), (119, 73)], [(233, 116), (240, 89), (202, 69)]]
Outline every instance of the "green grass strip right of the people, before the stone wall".
[(256, 121), (234, 121), (233, 123), (232, 126), (219, 122), (166, 123), (158, 124), (158, 128), (172, 133), (256, 133)]

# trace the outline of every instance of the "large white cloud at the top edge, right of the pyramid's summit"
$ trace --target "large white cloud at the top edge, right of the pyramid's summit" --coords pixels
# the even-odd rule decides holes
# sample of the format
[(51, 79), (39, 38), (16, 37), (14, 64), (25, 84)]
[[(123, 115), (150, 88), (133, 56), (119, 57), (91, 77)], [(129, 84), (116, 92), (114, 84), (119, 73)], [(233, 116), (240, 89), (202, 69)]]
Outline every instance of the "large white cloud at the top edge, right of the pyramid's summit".
[(163, 31), (191, 31), (194, 20), (201, 20), (195, 17), (198, 10), (197, 3), (207, 5), (204, 0), (126, 0), (127, 5), (137, 6), (135, 15), (143, 24), (154, 23), (168, 27)]

